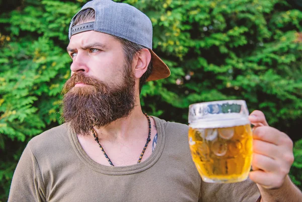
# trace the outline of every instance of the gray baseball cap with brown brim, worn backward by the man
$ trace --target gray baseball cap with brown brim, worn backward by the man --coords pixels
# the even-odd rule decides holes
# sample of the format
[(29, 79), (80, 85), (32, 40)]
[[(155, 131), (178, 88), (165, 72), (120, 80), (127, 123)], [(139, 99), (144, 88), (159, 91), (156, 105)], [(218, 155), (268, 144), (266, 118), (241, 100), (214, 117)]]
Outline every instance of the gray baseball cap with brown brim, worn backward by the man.
[[(95, 22), (72, 26), (74, 18), (85, 9), (95, 11)], [(147, 81), (165, 79), (170, 76), (170, 70), (163, 60), (152, 50), (152, 23), (150, 19), (133, 6), (116, 3), (111, 0), (94, 0), (85, 4), (75, 14), (69, 27), (69, 39), (72, 35), (85, 31), (97, 31), (114, 35), (142, 45), (151, 53), (153, 72)]]

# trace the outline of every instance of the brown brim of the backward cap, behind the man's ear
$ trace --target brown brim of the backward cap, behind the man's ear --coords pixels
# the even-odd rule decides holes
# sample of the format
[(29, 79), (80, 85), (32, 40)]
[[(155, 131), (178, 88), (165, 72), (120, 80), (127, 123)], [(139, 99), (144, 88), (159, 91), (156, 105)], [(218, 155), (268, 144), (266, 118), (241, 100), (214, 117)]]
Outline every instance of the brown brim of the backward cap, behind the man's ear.
[(152, 74), (147, 78), (146, 81), (155, 81), (169, 77), (171, 72), (167, 64), (165, 64), (165, 62), (163, 62), (163, 60), (157, 54), (155, 54), (153, 50), (149, 49), (149, 51), (152, 57), (153, 70)]

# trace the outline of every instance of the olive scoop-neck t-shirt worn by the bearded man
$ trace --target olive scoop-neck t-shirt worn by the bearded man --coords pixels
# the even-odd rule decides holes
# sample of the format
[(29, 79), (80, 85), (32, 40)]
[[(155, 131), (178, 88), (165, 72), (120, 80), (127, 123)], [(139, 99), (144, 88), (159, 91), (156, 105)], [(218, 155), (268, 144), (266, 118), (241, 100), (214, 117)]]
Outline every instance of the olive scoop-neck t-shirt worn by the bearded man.
[(190, 155), (188, 126), (153, 118), (157, 146), (130, 166), (96, 163), (67, 124), (34, 137), (14, 173), (9, 201), (257, 201), (259, 190), (249, 179), (203, 182)]

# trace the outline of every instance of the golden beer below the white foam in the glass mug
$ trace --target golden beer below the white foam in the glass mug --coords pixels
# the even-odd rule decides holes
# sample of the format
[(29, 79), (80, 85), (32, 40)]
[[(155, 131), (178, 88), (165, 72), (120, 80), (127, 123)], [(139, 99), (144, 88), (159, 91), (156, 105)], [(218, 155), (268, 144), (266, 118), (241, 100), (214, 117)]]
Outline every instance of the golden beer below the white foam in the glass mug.
[(252, 161), (250, 124), (222, 128), (190, 128), (192, 159), (204, 181), (247, 179)]

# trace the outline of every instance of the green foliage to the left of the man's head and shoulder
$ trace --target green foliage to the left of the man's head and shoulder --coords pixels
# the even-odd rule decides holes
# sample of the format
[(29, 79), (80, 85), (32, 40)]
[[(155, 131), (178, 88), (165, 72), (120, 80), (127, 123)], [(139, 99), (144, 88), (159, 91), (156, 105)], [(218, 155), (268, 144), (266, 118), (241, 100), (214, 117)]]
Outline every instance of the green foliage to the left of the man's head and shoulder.
[[(8, 195), (28, 140), (60, 122), (60, 92), (70, 76), (68, 27), (79, 8), (74, 3), (32, 1), (0, 18), (9, 25), (2, 30), (0, 49), (0, 200)], [(21, 150), (16, 143), (22, 143)]]

